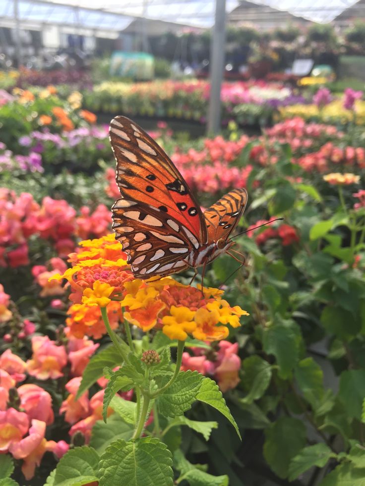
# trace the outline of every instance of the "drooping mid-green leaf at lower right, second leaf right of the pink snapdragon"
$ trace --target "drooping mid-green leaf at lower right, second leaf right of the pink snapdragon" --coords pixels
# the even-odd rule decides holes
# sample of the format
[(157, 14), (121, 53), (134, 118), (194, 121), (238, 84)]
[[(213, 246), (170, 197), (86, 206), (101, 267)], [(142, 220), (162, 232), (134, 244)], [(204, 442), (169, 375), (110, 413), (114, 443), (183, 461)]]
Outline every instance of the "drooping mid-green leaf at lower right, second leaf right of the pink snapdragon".
[(294, 371), (295, 379), (304, 398), (315, 411), (324, 396), (323, 371), (313, 358), (305, 358), (298, 363)]

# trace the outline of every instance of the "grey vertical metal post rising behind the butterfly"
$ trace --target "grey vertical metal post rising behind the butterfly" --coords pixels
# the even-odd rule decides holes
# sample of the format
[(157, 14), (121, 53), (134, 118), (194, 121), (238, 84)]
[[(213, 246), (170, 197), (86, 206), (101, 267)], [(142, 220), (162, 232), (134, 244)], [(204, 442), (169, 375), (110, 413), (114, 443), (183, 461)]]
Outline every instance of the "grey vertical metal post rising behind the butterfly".
[(210, 99), (207, 132), (215, 135), (221, 127), (221, 86), (226, 40), (226, 0), (216, 0), (215, 24), (210, 49)]

